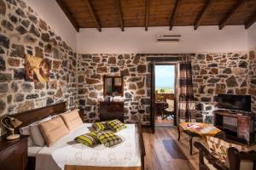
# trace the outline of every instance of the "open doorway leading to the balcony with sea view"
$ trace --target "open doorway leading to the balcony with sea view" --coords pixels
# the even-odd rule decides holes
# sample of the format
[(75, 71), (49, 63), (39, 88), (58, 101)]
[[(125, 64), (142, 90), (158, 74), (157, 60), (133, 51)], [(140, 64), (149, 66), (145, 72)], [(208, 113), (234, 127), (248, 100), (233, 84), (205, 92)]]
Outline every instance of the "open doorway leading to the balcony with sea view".
[(151, 126), (177, 125), (177, 64), (152, 64)]

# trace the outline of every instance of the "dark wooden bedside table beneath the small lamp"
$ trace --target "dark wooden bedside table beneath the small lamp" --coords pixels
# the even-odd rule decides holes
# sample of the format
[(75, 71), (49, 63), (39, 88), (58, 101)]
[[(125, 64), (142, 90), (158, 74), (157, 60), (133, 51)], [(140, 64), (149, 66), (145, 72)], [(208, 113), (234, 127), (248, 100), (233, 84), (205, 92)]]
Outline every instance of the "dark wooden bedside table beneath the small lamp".
[(27, 136), (20, 139), (0, 139), (0, 168), (4, 170), (25, 170), (27, 165)]

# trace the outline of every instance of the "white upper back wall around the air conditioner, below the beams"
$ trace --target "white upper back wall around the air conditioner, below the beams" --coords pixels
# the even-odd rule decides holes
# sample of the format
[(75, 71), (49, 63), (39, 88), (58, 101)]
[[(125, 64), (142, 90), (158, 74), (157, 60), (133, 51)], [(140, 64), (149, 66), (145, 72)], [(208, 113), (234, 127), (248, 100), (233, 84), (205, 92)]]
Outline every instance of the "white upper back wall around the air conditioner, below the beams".
[[(181, 42), (156, 42), (156, 34), (180, 34)], [(80, 29), (78, 53), (196, 53), (196, 52), (236, 52), (247, 50), (247, 31), (244, 26), (200, 26), (194, 31), (192, 26), (144, 28), (103, 28)]]

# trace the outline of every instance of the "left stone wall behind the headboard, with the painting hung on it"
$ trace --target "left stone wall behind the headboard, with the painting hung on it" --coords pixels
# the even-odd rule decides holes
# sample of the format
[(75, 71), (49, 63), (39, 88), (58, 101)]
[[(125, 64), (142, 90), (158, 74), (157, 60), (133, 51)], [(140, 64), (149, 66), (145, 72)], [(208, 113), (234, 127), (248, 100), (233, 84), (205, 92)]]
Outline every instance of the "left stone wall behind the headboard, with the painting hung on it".
[[(49, 82), (25, 82), (25, 55), (47, 58)], [(0, 116), (60, 101), (74, 107), (76, 54), (21, 0), (0, 0)]]

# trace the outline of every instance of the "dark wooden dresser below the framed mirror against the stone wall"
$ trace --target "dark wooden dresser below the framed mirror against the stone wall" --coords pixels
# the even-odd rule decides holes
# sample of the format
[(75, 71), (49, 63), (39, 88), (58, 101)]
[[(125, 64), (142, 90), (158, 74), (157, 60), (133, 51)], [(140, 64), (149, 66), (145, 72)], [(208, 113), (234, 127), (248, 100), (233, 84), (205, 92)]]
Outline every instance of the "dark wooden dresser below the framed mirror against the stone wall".
[(100, 101), (99, 114), (101, 121), (119, 119), (124, 122), (124, 102), (123, 101)]

